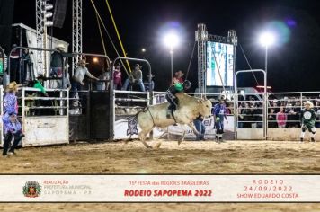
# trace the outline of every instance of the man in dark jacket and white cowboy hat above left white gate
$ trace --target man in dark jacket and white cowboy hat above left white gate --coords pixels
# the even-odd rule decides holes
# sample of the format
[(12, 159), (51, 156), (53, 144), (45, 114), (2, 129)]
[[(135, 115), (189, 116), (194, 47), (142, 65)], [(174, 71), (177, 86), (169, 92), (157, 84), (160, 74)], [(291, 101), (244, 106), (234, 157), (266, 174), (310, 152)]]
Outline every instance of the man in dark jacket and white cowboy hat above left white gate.
[[(56, 47), (57, 51), (54, 51), (51, 54), (51, 72), (50, 75), (54, 77), (62, 78), (65, 71), (65, 66), (67, 61), (64, 60), (65, 57), (73, 57), (72, 54), (66, 53), (66, 46), (62, 43), (59, 43)], [(61, 80), (58, 80), (57, 82), (58, 88), (63, 88), (63, 84)]]

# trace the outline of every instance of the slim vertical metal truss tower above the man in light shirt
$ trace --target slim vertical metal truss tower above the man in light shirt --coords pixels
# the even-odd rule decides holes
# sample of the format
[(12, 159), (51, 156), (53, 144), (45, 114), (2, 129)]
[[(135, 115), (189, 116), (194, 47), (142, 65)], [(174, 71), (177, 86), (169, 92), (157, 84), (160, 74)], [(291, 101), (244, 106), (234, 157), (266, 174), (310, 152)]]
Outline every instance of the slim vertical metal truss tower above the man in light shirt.
[[(73, 0), (72, 5), (72, 52), (82, 52), (82, 0)], [(74, 75), (75, 67), (81, 59), (81, 55), (77, 55), (72, 59), (72, 75)]]

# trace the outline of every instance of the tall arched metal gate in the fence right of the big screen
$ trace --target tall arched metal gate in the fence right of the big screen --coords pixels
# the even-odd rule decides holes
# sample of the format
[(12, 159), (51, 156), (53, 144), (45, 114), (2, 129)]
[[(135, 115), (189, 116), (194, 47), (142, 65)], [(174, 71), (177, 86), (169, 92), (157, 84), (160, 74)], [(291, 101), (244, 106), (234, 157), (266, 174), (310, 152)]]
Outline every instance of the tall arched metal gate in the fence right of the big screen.
[[(259, 99), (251, 99), (250, 94), (245, 96), (249, 99), (240, 99), (237, 88), (237, 75), (241, 73), (262, 72), (264, 82), (264, 93)], [(254, 93), (256, 95), (256, 93)], [(236, 139), (262, 140), (267, 138), (267, 77), (266, 72), (261, 69), (241, 70), (235, 75), (235, 119)], [(252, 95), (254, 96), (254, 95)]]

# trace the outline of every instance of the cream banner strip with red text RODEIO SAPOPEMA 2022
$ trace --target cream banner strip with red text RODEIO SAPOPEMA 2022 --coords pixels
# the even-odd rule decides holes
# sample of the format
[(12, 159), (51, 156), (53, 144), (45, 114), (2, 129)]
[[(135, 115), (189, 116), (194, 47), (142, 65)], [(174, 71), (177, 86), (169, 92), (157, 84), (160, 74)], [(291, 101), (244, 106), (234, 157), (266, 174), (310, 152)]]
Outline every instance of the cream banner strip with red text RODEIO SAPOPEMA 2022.
[(320, 175), (0, 175), (0, 202), (320, 202)]

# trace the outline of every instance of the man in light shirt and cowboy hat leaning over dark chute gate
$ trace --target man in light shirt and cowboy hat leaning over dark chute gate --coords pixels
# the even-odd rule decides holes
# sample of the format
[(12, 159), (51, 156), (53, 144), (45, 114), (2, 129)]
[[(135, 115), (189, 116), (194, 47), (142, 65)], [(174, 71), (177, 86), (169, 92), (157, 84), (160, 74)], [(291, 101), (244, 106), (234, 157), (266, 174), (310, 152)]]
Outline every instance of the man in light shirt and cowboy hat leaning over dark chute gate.
[(89, 76), (92, 79), (99, 80), (97, 77), (92, 75), (88, 68), (86, 68), (85, 59), (80, 60), (79, 66), (76, 67), (75, 75), (72, 76), (72, 82), (71, 82), (71, 98), (75, 98), (76, 92), (81, 90), (81, 86), (84, 85), (84, 75)]

